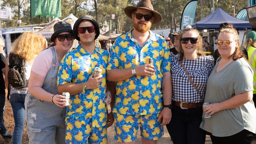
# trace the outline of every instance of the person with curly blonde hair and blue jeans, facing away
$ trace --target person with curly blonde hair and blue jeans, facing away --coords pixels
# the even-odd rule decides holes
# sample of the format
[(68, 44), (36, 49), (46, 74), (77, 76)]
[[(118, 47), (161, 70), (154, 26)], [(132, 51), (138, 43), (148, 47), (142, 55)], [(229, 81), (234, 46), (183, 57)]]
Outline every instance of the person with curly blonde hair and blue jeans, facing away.
[[(12, 54), (19, 55), (25, 59), (25, 75), (26, 79), (30, 79), (30, 71), (35, 57), (43, 51), (44, 41), (43, 37), (33, 33), (32, 31), (25, 31), (13, 43)], [(9, 72), (9, 56), (6, 59), (6, 85), (8, 85), (8, 72)], [(13, 132), (13, 144), (22, 143), (22, 133), (24, 129), (25, 120), (25, 97), (28, 92), (28, 87), (23, 89), (13, 88), (10, 85), (10, 103), (13, 108), (13, 117), (15, 122)]]

